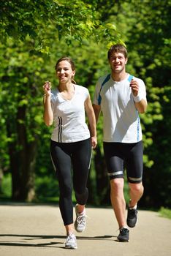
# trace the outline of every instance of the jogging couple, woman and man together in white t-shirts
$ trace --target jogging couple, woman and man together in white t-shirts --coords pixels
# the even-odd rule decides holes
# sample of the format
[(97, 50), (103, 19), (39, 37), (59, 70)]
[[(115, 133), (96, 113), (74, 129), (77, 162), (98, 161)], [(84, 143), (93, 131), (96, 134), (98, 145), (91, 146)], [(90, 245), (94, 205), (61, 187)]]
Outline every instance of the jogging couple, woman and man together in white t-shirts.
[[(111, 46), (107, 58), (111, 72), (97, 81), (93, 105), (88, 89), (75, 83), (75, 64), (68, 57), (62, 57), (56, 63), (56, 89), (51, 90), (48, 81), (43, 86), (45, 124), (54, 124), (50, 156), (58, 178), (59, 208), (66, 229), (67, 249), (77, 249), (73, 223), (77, 232), (86, 228), (86, 184), (91, 149), (97, 143), (96, 124), (101, 110), (104, 157), (110, 178), (110, 199), (118, 221), (118, 241), (129, 241), (129, 227), (137, 224), (137, 202), (143, 194), (139, 113), (144, 113), (147, 108), (145, 84), (126, 72), (128, 56), (124, 45)], [(127, 217), (123, 195), (124, 167), (130, 195)], [(72, 186), (77, 200), (75, 222)]]

